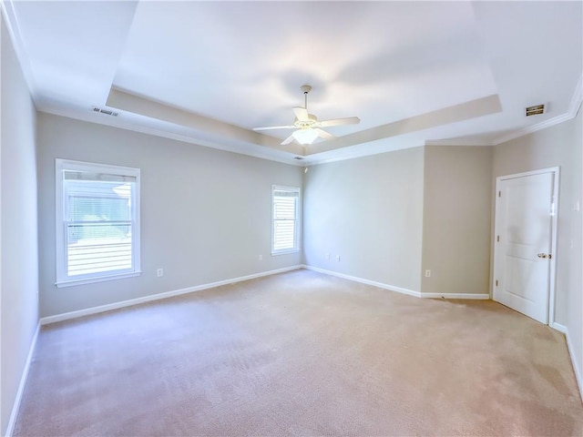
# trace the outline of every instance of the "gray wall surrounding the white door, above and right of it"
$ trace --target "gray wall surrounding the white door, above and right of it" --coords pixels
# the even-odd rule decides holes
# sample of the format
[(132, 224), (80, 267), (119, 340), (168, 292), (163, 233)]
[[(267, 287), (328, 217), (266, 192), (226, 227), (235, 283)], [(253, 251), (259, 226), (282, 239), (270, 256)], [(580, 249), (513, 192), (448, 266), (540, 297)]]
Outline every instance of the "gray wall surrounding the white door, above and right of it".
[(494, 178), (538, 168), (560, 167), (555, 320), (568, 329), (579, 375), (583, 375), (582, 127), (579, 109), (573, 120), (494, 148)]

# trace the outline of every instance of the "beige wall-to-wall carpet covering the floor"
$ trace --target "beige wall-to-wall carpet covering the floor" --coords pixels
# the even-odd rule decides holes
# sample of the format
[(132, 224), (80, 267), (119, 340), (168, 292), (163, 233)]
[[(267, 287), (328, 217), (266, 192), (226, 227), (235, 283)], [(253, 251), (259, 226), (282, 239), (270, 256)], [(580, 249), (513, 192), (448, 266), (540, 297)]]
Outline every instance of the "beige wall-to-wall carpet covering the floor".
[(46, 326), (15, 435), (575, 435), (562, 334), (309, 270)]

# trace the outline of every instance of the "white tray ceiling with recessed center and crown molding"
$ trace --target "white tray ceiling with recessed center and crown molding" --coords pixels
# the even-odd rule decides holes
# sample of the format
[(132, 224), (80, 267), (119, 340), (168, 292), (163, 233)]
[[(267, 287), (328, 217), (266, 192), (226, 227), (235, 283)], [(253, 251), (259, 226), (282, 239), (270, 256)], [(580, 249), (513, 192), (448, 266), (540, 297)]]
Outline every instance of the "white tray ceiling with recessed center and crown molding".
[[(580, 1), (3, 8), (39, 110), (302, 165), (497, 144), (573, 117), (581, 101)], [(311, 113), (360, 125), (308, 147), (280, 146), (289, 130), (252, 131), (292, 124), (303, 84)], [(524, 116), (540, 103), (546, 114)]]

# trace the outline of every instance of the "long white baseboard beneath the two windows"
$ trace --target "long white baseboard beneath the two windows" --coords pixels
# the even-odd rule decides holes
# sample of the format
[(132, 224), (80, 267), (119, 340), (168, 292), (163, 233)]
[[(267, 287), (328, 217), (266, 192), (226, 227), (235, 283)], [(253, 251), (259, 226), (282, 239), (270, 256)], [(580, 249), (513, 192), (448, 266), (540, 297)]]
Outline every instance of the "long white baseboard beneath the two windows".
[(152, 300), (168, 299), (168, 298), (171, 298), (174, 296), (179, 296), (181, 294), (187, 294), (187, 293), (192, 293), (192, 292), (201, 291), (201, 290), (208, 290), (208, 289), (212, 289), (215, 287), (220, 287), (221, 285), (234, 284), (235, 282), (241, 282), (243, 280), (256, 279), (256, 278), (261, 278), (264, 276), (271, 276), (271, 275), (275, 275), (277, 273), (283, 273), (285, 271), (290, 271), (290, 270), (295, 270), (295, 269), (302, 269), (302, 266), (292, 266), (292, 267), (286, 267), (283, 269), (262, 271), (261, 273), (254, 273), (252, 275), (241, 276), (239, 278), (225, 279), (225, 280), (220, 280), (217, 282), (210, 282), (208, 284), (197, 285), (195, 287), (188, 287), (186, 289), (165, 291), (163, 293), (151, 294), (149, 296), (144, 296), (141, 298), (122, 300), (121, 302), (108, 303), (107, 305), (100, 305), (98, 307), (87, 308), (85, 310), (64, 312), (62, 314), (56, 314), (55, 316), (43, 317), (40, 320), (40, 324), (47, 325), (49, 323), (56, 323), (57, 321), (77, 319), (77, 317), (88, 316), (91, 314), (97, 314), (99, 312), (105, 312), (105, 311), (110, 311), (110, 310), (118, 310), (120, 308), (130, 307), (132, 305), (138, 305), (140, 303), (150, 302)]

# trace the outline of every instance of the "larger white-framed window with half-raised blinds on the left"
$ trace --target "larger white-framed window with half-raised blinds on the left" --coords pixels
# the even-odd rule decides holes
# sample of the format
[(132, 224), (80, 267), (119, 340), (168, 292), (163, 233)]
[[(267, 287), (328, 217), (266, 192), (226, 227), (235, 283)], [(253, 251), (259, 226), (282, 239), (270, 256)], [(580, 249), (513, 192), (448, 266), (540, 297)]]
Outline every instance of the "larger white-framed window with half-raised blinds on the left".
[(139, 169), (56, 159), (57, 287), (139, 273)]

